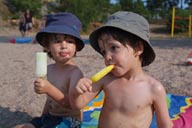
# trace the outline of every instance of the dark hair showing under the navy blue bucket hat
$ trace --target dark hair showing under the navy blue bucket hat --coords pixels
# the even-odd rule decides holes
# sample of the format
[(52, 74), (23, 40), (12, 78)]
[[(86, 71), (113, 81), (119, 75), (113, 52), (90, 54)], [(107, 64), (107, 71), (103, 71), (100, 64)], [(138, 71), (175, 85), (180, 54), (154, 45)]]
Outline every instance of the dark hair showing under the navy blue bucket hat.
[[(70, 35), (69, 35), (70, 36)], [(71, 36), (73, 37), (73, 36)], [(53, 55), (51, 54), (50, 51), (47, 51), (47, 49), (50, 48), (50, 43), (56, 43), (56, 42), (61, 42), (63, 40), (65, 40), (66, 38), (66, 34), (56, 34), (56, 33), (42, 33), (42, 44), (43, 44), (43, 51), (44, 52), (47, 52), (48, 56), (50, 58), (53, 58)], [(76, 44), (76, 47), (77, 47), (77, 41), (78, 39), (75, 39), (75, 44)], [(77, 51), (77, 48), (76, 48), (76, 51)], [(76, 56), (76, 52), (75, 52), (75, 55)]]

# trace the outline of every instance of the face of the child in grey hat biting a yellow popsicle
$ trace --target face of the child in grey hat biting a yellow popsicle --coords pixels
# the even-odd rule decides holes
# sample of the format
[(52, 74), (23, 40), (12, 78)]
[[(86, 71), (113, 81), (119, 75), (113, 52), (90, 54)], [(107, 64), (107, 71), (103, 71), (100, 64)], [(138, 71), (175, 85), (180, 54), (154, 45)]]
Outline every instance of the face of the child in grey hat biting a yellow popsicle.
[(128, 44), (124, 46), (110, 35), (102, 35), (98, 39), (105, 64), (115, 64), (112, 71), (116, 76), (122, 76), (130, 71), (139, 60), (137, 52)]

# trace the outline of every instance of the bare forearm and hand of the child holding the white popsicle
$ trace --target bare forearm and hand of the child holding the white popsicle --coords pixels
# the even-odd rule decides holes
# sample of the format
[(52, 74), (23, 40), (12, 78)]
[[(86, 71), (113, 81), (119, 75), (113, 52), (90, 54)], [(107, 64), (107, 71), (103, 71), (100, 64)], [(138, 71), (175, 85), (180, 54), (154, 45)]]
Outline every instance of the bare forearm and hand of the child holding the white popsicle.
[(34, 82), (34, 90), (38, 94), (47, 94), (61, 105), (64, 104), (64, 94), (46, 79), (36, 79)]

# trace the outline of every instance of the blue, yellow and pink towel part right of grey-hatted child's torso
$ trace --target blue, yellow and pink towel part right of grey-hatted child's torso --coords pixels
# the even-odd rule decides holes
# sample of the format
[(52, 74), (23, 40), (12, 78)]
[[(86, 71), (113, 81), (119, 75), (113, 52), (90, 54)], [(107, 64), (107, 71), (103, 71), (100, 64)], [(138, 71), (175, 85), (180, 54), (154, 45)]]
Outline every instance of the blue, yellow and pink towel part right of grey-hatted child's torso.
[[(169, 115), (173, 123), (172, 128), (192, 128), (192, 98), (167, 94)], [(155, 115), (150, 128), (157, 128)]]

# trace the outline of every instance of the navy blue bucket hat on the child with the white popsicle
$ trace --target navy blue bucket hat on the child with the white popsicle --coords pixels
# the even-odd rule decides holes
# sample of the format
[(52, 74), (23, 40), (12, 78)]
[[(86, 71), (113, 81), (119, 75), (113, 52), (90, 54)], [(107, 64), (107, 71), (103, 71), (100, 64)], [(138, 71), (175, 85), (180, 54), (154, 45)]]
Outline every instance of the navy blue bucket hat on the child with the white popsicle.
[(42, 36), (45, 33), (67, 34), (75, 37), (78, 42), (77, 51), (81, 51), (84, 47), (84, 42), (80, 36), (82, 24), (81, 21), (72, 13), (60, 12), (57, 14), (47, 15), (45, 28), (41, 29), (37, 35), (36, 40), (42, 46)]

